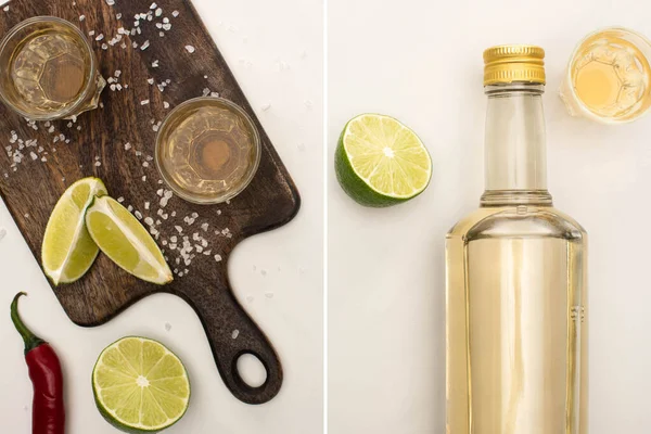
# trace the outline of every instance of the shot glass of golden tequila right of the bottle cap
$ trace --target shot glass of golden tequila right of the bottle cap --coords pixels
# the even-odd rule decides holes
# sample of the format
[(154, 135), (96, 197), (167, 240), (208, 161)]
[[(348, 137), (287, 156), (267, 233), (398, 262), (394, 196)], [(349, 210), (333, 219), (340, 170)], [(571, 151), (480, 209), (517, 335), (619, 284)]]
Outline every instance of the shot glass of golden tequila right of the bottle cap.
[(575, 49), (561, 85), (570, 114), (603, 124), (633, 122), (651, 106), (651, 42), (625, 28), (596, 31)]

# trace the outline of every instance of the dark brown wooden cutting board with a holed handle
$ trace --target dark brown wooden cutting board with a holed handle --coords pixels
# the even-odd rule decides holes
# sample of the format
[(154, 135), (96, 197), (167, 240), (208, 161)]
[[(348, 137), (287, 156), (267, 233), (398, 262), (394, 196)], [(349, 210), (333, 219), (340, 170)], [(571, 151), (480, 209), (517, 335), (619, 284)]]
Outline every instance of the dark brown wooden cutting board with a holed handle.
[[(155, 0), (151, 9), (152, 1), (13, 0), (8, 10), (0, 9), (0, 35), (36, 15), (74, 23), (90, 35), (104, 78), (119, 75), (120, 85), (115, 90), (108, 85), (101, 106), (76, 123), (34, 125), (0, 104), (0, 143), (7, 151), (0, 155), (0, 192), (40, 264), (46, 224), (61, 194), (80, 178), (103, 179), (111, 195), (124, 197), (125, 206), (132, 206), (143, 221), (154, 220), (157, 242), (176, 269), (175, 281), (166, 286), (144, 283), (100, 255), (81, 280), (53, 289), (71, 320), (100, 326), (150, 294), (176, 294), (199, 315), (226, 386), (244, 403), (266, 403), (280, 390), (281, 363), (233, 296), (227, 261), (246, 237), (290, 221), (298, 212), (298, 193), (192, 3)], [(141, 13), (151, 21), (139, 20), (140, 34), (115, 42), (118, 29), (136, 28), (135, 15)], [(179, 103), (212, 92), (244, 107), (254, 119), (263, 139), (259, 169), (230, 204), (192, 205), (174, 196), (163, 206), (161, 189), (166, 186), (151, 159), (156, 126)], [(194, 247), (190, 265), (179, 253), (183, 237), (201, 246)], [(237, 360), (243, 354), (253, 354), (265, 366), (261, 386), (248, 386), (238, 373)]]

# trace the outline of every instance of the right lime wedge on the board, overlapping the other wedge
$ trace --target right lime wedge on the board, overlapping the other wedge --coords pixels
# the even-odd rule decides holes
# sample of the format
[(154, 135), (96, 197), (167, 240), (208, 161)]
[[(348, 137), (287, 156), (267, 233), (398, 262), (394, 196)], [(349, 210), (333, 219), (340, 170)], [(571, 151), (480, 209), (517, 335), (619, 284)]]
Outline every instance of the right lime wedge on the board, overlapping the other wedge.
[(171, 282), (171, 270), (156, 242), (113, 197), (94, 200), (86, 212), (86, 227), (100, 250), (125, 271), (156, 284)]

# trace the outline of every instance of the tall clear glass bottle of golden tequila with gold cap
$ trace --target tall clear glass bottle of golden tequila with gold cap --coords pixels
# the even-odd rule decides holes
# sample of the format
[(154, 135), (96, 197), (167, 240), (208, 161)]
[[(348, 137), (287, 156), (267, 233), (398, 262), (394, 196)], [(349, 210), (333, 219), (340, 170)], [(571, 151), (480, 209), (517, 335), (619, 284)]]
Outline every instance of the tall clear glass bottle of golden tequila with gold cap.
[(486, 191), (446, 239), (447, 433), (586, 434), (586, 232), (546, 182), (542, 49), (486, 50)]

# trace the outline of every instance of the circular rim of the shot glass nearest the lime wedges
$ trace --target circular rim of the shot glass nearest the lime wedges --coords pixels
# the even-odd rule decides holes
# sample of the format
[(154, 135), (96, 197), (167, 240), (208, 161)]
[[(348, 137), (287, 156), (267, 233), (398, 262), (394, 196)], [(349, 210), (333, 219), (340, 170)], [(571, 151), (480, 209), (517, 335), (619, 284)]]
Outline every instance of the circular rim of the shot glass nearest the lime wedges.
[[(247, 170), (246, 177), (242, 178), (243, 181), (238, 189), (228, 192), (228, 194), (221, 194), (218, 197), (199, 199), (194, 193), (188, 192), (186, 189), (182, 189), (174, 180), (171, 180), (169, 178), (169, 176), (167, 175), (167, 171), (163, 168), (163, 161), (162, 161), (163, 158), (161, 155), (162, 148), (164, 145), (163, 135), (166, 130), (166, 127), (169, 126), (169, 123), (173, 122), (178, 116), (179, 112), (182, 111), (183, 108), (186, 108), (188, 105), (197, 104), (197, 103), (199, 104), (210, 103), (210, 102), (218, 102), (220, 104), (226, 105), (228, 108), (237, 112), (237, 114), (240, 115), (242, 117), (242, 119), (244, 119), (244, 122), (247, 124), (250, 129), (253, 131), (253, 148), (254, 148), (254, 152), (255, 152), (255, 157), (254, 157), (253, 164), (251, 165), (250, 169)], [(253, 118), (248, 115), (248, 113), (246, 113), (246, 111), (244, 111), (243, 107), (241, 107), (240, 105), (235, 104), (234, 102), (227, 100), (225, 98), (221, 98), (221, 97), (197, 97), (197, 98), (192, 98), (190, 100), (183, 101), (182, 103), (180, 103), (179, 105), (174, 107), (167, 114), (167, 116), (165, 116), (165, 118), (163, 119), (163, 123), (161, 124), (161, 127), (158, 128), (158, 132), (156, 135), (156, 143), (155, 143), (155, 149), (154, 149), (154, 161), (156, 163), (156, 169), (158, 170), (158, 174), (163, 178), (163, 181), (165, 181), (167, 187), (169, 187), (176, 195), (178, 195), (179, 197), (181, 197), (184, 201), (188, 201), (188, 202), (191, 202), (194, 204), (199, 204), (199, 205), (216, 205), (216, 204), (225, 203), (226, 201), (229, 201), (229, 200), (235, 197), (237, 195), (242, 193), (242, 191), (244, 191), (248, 187), (248, 184), (251, 183), (251, 181), (255, 177), (255, 174), (258, 170), (260, 159), (261, 159), (261, 154), (263, 154), (261, 150), (263, 150), (263, 142), (261, 142), (261, 137), (258, 131), (258, 128), (256, 127), (255, 123), (253, 122)]]

